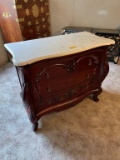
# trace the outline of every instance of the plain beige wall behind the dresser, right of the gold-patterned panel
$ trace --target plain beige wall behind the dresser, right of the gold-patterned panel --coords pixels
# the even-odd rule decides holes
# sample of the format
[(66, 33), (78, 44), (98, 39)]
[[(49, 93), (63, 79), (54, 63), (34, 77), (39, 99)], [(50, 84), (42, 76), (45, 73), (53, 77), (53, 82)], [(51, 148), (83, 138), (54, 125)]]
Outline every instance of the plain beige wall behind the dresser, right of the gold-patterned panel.
[(86, 26), (120, 28), (120, 0), (49, 0), (52, 33), (61, 28)]

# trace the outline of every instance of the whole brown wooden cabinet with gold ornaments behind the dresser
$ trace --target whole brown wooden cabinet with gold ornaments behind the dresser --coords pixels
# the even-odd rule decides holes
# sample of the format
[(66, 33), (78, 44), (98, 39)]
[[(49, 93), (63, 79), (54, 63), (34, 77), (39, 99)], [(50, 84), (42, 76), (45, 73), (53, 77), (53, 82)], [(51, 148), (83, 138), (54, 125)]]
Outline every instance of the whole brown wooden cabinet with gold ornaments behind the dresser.
[(6, 43), (50, 36), (48, 0), (0, 1), (0, 27)]

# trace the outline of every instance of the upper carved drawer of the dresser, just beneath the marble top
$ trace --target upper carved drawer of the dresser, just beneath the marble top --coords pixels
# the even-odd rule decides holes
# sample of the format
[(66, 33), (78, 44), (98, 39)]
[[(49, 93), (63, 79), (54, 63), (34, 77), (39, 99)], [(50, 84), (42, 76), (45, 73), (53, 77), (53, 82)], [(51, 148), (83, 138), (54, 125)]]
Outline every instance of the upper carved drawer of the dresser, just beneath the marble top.
[(100, 62), (103, 59), (102, 52), (103, 50), (99, 49), (97, 53), (91, 50), (31, 64), (29, 68), (29, 74), (32, 77), (31, 82), (40, 81), (40, 83), (44, 83), (47, 80), (47, 83), (53, 83), (53, 81), (57, 82), (65, 79), (63, 77), (74, 80), (78, 73), (88, 69), (94, 72), (93, 74), (99, 74)]

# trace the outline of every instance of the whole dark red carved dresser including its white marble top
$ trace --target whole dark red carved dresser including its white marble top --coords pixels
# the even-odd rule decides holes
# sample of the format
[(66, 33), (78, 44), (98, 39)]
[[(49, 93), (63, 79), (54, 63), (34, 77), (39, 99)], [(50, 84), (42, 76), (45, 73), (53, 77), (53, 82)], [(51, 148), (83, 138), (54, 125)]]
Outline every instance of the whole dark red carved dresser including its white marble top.
[(5, 44), (34, 131), (40, 117), (49, 112), (72, 107), (89, 95), (98, 101), (109, 70), (110, 44), (114, 41), (88, 32)]

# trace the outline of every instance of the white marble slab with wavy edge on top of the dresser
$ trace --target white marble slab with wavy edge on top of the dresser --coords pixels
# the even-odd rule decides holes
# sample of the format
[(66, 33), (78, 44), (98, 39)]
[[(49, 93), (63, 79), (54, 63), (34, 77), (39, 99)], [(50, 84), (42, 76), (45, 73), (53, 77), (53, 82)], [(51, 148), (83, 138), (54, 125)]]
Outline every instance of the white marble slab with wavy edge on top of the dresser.
[(16, 66), (24, 66), (46, 58), (60, 57), (115, 44), (114, 40), (89, 32), (71, 33), (28, 41), (6, 43)]

